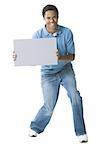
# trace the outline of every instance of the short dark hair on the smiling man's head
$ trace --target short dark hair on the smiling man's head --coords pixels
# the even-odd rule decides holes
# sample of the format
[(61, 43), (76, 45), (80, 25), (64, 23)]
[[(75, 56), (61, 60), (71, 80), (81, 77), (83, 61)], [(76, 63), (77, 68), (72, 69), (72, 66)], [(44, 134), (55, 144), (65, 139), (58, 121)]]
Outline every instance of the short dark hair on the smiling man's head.
[(57, 18), (58, 18), (59, 12), (58, 12), (57, 7), (54, 6), (54, 5), (46, 5), (46, 6), (43, 8), (43, 10), (42, 10), (42, 16), (43, 16), (43, 17), (44, 17), (44, 15), (45, 15), (45, 12), (48, 11), (48, 10), (53, 10), (53, 11), (55, 11), (56, 14), (57, 14)]

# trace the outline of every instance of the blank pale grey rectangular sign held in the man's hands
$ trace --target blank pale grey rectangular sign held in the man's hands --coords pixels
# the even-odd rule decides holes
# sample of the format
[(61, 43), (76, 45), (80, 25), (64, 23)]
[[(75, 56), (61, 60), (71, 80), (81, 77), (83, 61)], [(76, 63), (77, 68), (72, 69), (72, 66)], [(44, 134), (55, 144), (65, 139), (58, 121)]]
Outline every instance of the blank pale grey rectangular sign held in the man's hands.
[(56, 38), (16, 39), (15, 66), (56, 65)]

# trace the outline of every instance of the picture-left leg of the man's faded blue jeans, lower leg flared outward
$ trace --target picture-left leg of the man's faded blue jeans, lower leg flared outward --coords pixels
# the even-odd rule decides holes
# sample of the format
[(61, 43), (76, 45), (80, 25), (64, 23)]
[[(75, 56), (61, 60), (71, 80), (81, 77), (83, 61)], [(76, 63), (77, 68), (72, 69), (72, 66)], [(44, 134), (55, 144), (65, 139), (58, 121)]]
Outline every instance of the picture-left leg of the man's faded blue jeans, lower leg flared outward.
[(59, 85), (60, 83), (56, 75), (42, 76), (44, 105), (41, 107), (30, 125), (30, 128), (35, 130), (37, 133), (43, 132), (51, 119), (58, 99)]

